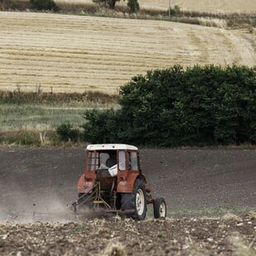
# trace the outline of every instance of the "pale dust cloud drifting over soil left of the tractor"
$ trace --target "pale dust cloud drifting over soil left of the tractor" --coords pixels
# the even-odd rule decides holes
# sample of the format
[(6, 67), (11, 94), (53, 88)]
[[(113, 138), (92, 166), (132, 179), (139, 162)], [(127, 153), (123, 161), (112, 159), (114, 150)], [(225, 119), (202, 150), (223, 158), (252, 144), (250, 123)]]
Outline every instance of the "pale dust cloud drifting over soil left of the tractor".
[(72, 202), (67, 203), (54, 192), (0, 189), (0, 221), (31, 223), (75, 220)]

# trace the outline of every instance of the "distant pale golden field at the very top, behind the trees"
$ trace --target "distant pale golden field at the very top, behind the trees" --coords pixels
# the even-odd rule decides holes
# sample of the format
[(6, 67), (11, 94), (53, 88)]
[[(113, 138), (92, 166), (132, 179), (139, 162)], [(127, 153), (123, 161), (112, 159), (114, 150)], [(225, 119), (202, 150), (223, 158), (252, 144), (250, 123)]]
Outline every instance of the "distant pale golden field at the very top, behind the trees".
[[(92, 0), (55, 0), (55, 2), (92, 3)], [(168, 10), (169, 0), (138, 0), (140, 7)], [(117, 2), (117, 5), (126, 2)], [(183, 11), (192, 12), (256, 12), (255, 0), (170, 0), (171, 7), (178, 5)]]

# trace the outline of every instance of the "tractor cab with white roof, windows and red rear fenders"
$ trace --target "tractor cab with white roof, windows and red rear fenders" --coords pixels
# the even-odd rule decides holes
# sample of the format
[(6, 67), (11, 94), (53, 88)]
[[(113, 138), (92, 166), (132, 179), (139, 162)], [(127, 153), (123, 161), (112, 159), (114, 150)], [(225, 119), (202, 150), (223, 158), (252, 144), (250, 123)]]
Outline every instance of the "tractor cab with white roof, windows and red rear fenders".
[(132, 145), (88, 145), (85, 173), (78, 182), (78, 193), (88, 192), (95, 183), (116, 192), (132, 192), (136, 178), (145, 181), (140, 171), (138, 148)]

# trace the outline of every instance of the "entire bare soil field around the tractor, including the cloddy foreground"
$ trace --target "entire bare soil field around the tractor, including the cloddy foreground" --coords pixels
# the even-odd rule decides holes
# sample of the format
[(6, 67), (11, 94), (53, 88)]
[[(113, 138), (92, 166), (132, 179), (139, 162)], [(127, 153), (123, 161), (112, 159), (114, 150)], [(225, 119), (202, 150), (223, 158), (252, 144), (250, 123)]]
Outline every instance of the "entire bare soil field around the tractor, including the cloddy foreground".
[[(154, 196), (166, 198), (167, 220), (73, 221), (67, 204), (83, 149), (0, 149), (0, 220), (11, 221), (0, 222), (0, 255), (255, 254), (255, 149), (142, 149), (140, 158)], [(216, 217), (223, 208), (251, 212)], [(58, 216), (34, 220), (62, 222), (19, 224), (43, 211)]]

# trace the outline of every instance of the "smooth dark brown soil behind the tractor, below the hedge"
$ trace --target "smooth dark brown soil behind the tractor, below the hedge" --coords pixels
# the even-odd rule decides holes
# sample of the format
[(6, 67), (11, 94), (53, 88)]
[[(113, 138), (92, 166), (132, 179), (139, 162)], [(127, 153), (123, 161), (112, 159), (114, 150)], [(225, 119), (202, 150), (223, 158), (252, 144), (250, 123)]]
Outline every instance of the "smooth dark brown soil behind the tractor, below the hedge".
[[(182, 209), (218, 214), (220, 207), (256, 206), (255, 149), (142, 149), (140, 154), (153, 196), (166, 198), (170, 216)], [(83, 149), (0, 149), (0, 159), (4, 211), (22, 216), (76, 199)]]

